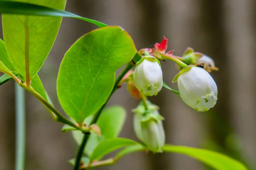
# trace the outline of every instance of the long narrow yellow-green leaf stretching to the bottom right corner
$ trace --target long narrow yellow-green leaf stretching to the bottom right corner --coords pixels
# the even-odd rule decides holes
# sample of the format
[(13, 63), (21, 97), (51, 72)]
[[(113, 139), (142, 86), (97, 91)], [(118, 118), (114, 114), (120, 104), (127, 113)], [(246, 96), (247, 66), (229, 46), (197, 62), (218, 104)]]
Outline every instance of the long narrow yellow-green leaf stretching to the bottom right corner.
[(162, 147), (162, 150), (165, 152), (181, 153), (191, 156), (208, 164), (216, 170), (247, 170), (247, 168), (239, 161), (210, 150), (174, 145), (166, 145)]

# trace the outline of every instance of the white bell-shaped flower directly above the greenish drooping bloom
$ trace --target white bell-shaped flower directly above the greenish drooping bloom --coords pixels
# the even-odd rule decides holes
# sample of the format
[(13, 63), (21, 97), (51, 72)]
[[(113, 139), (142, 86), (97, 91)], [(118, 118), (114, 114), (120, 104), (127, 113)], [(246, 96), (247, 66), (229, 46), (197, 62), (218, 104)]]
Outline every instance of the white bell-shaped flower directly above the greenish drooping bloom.
[(163, 73), (160, 62), (152, 56), (145, 56), (134, 70), (134, 85), (146, 96), (157, 95), (163, 87)]

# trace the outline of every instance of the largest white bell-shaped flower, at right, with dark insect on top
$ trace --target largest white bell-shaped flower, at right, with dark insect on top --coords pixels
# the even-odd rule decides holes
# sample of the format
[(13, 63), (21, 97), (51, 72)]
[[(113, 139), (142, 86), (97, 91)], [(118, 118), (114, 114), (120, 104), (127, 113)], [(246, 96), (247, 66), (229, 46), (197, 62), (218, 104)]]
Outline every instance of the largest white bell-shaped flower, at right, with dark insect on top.
[(216, 104), (218, 89), (211, 75), (201, 67), (191, 66), (181, 70), (174, 82), (178, 82), (181, 99), (196, 111), (203, 112)]

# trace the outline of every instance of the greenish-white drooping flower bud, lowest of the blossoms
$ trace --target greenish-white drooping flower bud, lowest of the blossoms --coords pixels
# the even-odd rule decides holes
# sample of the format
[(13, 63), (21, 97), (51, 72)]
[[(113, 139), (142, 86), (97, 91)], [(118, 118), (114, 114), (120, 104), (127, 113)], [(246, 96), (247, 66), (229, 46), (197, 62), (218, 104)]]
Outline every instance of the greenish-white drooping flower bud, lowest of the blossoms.
[(153, 152), (162, 152), (165, 144), (163, 117), (158, 113), (158, 106), (148, 102), (148, 110), (140, 104), (134, 109), (134, 130), (136, 136)]

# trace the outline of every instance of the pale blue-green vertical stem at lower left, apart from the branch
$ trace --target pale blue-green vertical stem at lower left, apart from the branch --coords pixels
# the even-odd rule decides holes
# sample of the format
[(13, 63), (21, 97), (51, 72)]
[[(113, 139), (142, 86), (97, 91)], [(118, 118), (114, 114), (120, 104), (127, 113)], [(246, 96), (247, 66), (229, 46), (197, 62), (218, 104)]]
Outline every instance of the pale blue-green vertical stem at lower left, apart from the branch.
[(25, 170), (26, 148), (25, 91), (15, 83), (16, 153), (15, 170)]

